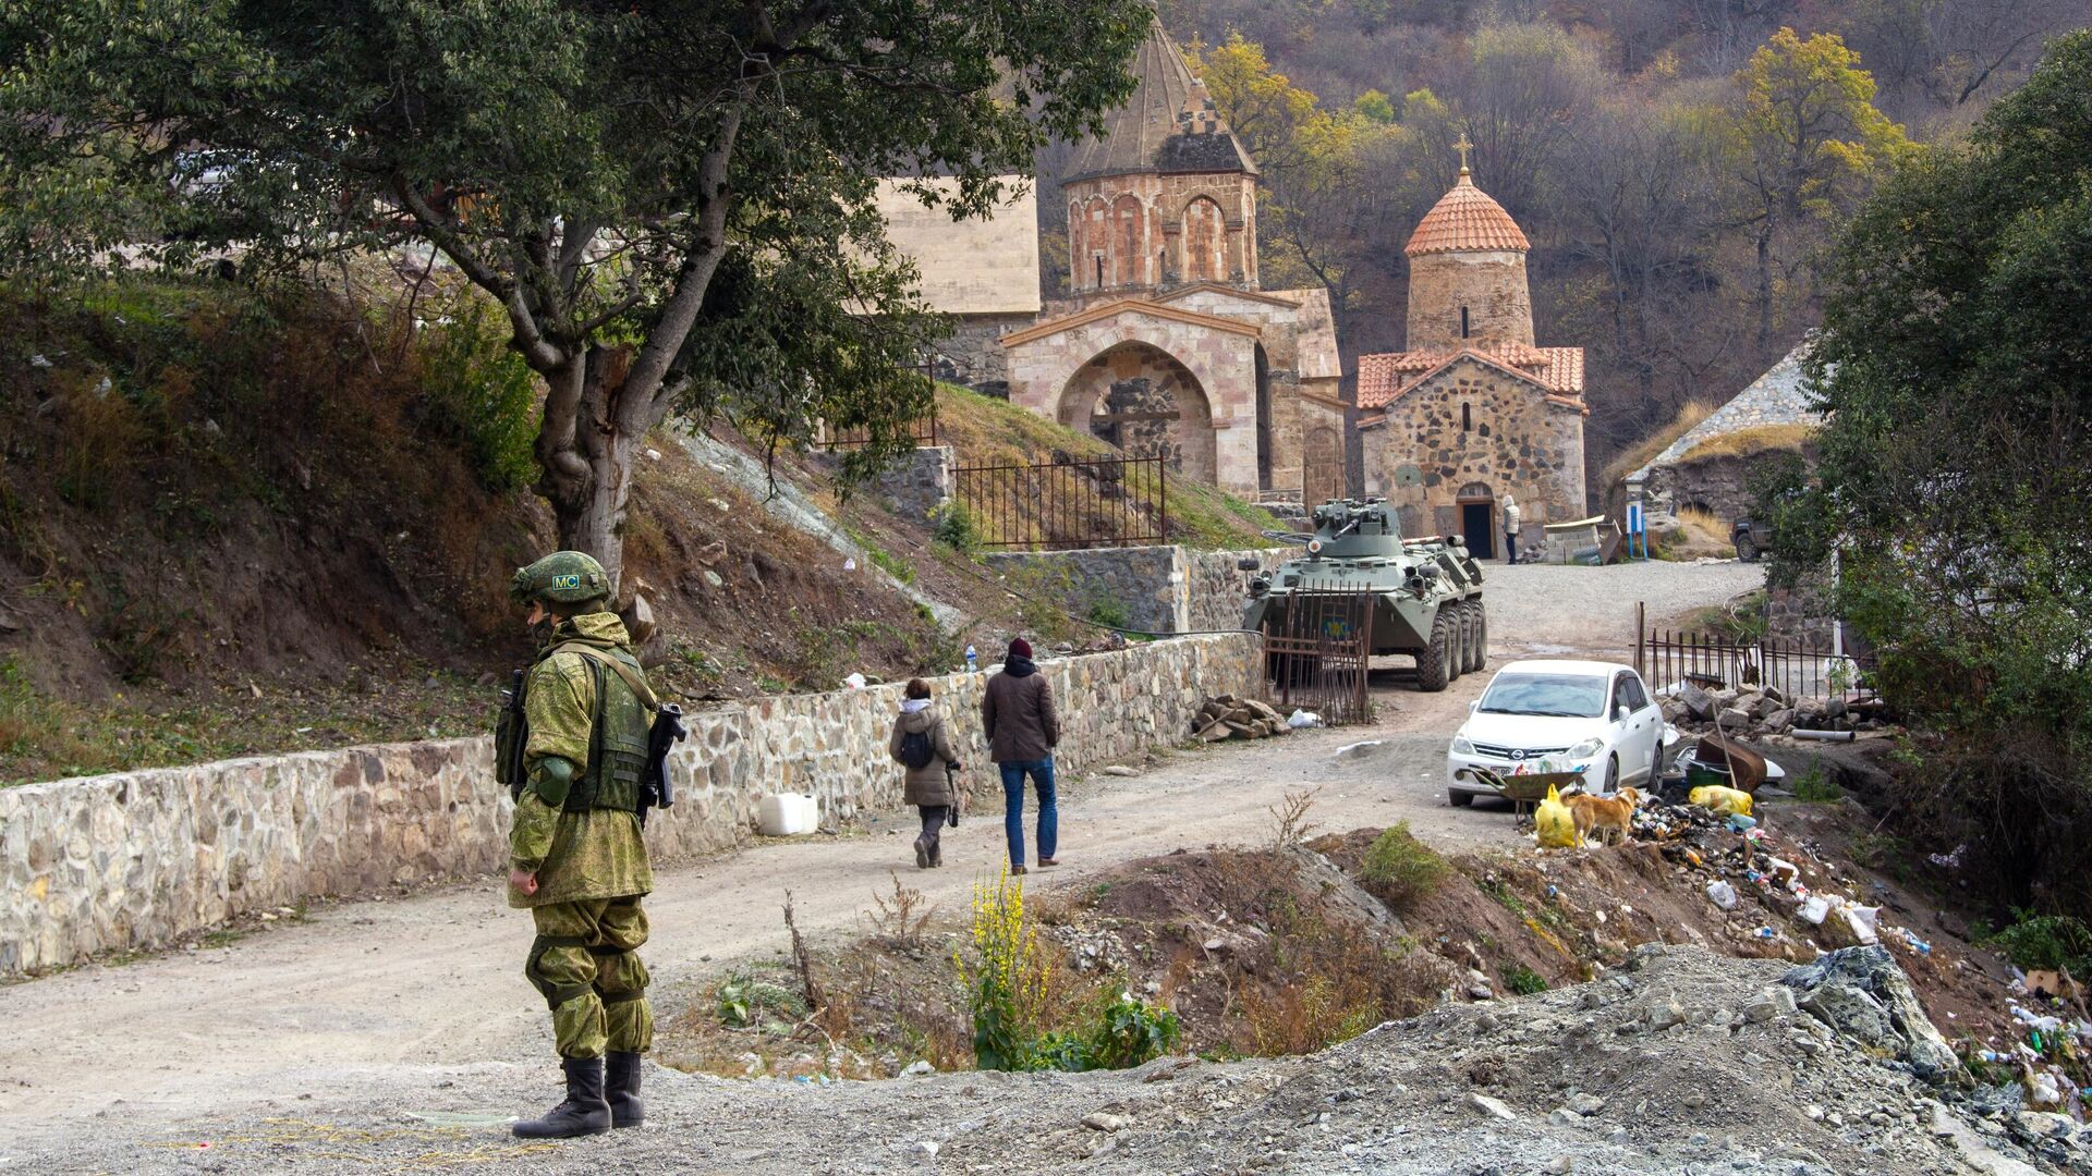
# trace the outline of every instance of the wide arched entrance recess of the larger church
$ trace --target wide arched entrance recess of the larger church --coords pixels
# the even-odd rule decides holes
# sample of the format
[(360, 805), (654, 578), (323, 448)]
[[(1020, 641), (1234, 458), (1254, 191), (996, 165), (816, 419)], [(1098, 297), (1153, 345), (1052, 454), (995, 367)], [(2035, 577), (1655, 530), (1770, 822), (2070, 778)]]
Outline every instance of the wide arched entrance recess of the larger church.
[(1084, 364), (1061, 389), (1056, 416), (1125, 456), (1161, 456), (1174, 471), (1215, 481), (1213, 406), (1176, 356), (1151, 343), (1119, 343)]

